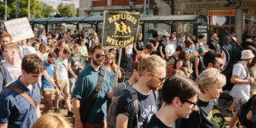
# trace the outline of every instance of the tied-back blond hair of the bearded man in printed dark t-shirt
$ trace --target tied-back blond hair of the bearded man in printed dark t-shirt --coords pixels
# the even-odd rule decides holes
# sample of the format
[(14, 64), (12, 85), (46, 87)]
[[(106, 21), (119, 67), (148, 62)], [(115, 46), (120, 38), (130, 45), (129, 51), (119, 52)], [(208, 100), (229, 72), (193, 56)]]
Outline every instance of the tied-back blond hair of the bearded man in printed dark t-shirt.
[(138, 72), (140, 73), (140, 76), (145, 72), (156, 73), (156, 68), (159, 67), (166, 69), (166, 61), (159, 55), (151, 55), (148, 58), (141, 57), (140, 59), (137, 59), (137, 61), (139, 61)]

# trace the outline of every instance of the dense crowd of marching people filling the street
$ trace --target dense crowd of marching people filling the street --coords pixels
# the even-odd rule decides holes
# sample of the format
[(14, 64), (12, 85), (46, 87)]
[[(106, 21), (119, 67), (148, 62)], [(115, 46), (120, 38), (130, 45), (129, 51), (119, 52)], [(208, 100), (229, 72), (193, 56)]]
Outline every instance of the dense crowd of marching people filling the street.
[[(19, 42), (2, 33), (0, 127), (71, 127), (58, 114), (61, 97), (75, 128), (225, 127), (218, 98), (226, 78), (220, 73), (223, 62), (216, 33), (206, 40), (201, 34), (176, 36), (173, 31), (171, 36), (152, 34), (148, 42), (140, 33), (135, 45), (119, 53), (121, 48), (102, 48), (100, 32), (78, 32), (41, 30), (39, 36)], [(230, 127), (238, 121), (239, 108), (256, 94), (256, 49), (251, 40), (245, 37), (230, 78), (235, 83), (227, 110)], [(117, 82), (119, 55), (130, 75), (123, 83)], [(255, 112), (252, 109), (246, 120), (254, 122)]]

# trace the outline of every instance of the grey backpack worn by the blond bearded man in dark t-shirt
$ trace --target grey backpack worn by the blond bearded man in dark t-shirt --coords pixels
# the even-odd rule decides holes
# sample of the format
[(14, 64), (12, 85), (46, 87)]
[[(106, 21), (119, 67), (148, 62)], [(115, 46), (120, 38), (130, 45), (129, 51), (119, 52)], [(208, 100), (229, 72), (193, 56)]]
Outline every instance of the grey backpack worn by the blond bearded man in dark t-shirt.
[[(133, 125), (133, 122), (136, 121), (136, 128), (139, 128), (139, 117), (138, 117), (138, 109), (139, 109), (139, 101), (138, 101), (138, 96), (137, 96), (137, 92), (135, 91), (134, 88), (132, 88), (131, 86), (128, 86), (126, 89), (124, 90), (128, 90), (130, 92), (131, 95), (131, 99), (132, 99), (132, 109), (131, 109), (131, 113), (130, 113), (130, 117), (128, 120), (128, 128), (131, 128)], [(107, 111), (107, 128), (116, 128), (116, 105), (118, 102), (119, 97), (115, 98)]]

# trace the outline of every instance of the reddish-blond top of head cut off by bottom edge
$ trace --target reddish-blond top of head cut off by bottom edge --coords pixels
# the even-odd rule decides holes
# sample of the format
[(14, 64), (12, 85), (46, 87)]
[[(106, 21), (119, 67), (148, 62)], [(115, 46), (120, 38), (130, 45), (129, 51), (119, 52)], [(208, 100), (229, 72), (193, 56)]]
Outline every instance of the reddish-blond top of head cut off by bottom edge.
[(58, 113), (49, 112), (40, 116), (31, 128), (71, 128), (69, 122)]

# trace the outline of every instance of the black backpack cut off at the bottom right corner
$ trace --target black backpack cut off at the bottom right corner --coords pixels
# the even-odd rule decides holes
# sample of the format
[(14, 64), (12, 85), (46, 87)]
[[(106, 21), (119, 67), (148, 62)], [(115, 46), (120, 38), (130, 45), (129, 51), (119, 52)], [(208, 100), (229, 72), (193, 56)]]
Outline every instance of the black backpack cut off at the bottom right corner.
[(244, 105), (242, 105), (242, 107), (238, 111), (237, 116), (242, 126), (247, 126), (247, 127), (253, 126), (253, 122), (247, 120), (246, 116), (248, 112), (251, 110), (251, 105), (252, 105), (252, 102), (254, 101), (254, 97), (256, 97), (256, 95), (251, 97), (248, 102), (245, 102)]

